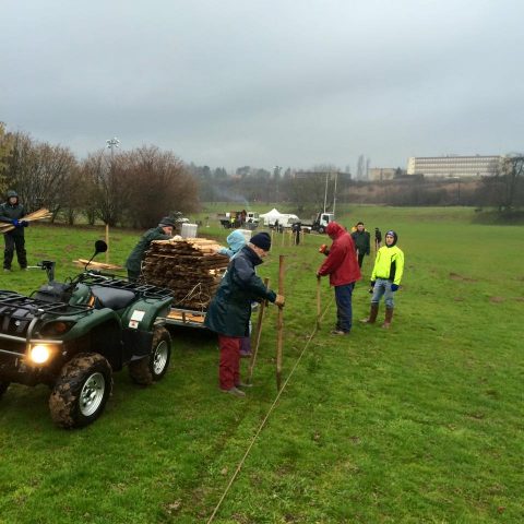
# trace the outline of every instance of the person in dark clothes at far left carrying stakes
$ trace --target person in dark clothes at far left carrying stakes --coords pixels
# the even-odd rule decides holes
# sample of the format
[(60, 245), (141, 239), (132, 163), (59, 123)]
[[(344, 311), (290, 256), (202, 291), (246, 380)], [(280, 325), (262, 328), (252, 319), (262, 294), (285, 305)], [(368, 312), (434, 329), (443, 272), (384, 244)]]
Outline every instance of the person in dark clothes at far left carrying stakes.
[(7, 202), (0, 205), (0, 222), (12, 224), (14, 229), (3, 234), (3, 241), (5, 243), (5, 250), (3, 252), (3, 271), (11, 271), (11, 263), (13, 262), (15, 249), (20, 269), (26, 270), (27, 252), (25, 251), (24, 227), (27, 227), (29, 223), (22, 219), (25, 216), (25, 210), (19, 201), (19, 194), (16, 191), (8, 191), (7, 196)]

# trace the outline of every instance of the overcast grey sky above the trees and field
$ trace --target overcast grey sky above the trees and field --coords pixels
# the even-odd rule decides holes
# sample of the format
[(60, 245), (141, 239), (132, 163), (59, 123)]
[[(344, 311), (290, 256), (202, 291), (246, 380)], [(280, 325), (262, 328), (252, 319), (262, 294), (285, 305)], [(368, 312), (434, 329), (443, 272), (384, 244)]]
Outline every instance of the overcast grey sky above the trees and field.
[(0, 120), (228, 169), (522, 152), (522, 0), (2, 0)]

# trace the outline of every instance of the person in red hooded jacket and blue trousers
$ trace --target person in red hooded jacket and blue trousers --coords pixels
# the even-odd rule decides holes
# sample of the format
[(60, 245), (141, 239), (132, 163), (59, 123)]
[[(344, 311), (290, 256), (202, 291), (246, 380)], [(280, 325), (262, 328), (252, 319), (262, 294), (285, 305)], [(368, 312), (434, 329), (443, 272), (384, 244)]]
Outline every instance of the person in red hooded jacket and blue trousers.
[(336, 326), (333, 335), (348, 335), (353, 325), (352, 295), (360, 279), (357, 253), (352, 236), (336, 222), (331, 222), (325, 233), (333, 240), (327, 258), (317, 272), (317, 277), (330, 275), (335, 288)]

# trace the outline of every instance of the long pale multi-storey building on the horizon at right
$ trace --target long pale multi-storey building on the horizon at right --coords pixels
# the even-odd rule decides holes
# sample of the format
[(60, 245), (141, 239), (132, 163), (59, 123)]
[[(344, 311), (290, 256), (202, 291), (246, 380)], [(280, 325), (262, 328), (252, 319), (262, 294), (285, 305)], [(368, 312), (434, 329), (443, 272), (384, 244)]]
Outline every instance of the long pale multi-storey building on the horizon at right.
[(408, 175), (425, 177), (490, 177), (501, 156), (412, 156), (407, 160)]

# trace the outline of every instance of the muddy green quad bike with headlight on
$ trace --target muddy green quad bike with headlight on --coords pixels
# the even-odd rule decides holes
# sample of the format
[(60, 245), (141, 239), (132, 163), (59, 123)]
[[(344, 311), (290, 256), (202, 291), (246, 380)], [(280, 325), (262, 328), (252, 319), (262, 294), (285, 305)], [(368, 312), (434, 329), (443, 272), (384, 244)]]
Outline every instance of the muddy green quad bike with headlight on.
[[(98, 240), (93, 258), (107, 250)], [(96, 420), (112, 389), (112, 372), (128, 366), (141, 385), (160, 380), (171, 356), (164, 327), (171, 291), (87, 270), (31, 296), (0, 290), (0, 396), (11, 382), (51, 388), (49, 409), (63, 428)]]

